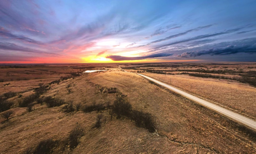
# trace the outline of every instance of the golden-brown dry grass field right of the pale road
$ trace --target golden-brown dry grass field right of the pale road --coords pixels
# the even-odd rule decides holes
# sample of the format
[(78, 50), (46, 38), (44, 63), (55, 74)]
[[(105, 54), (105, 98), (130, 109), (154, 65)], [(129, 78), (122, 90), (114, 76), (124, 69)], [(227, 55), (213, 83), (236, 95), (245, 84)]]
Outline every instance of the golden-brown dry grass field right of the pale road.
[[(145, 73), (159, 81), (244, 114), (256, 120), (256, 88), (225, 79)], [(172, 82), (172, 83), (170, 83)]]

